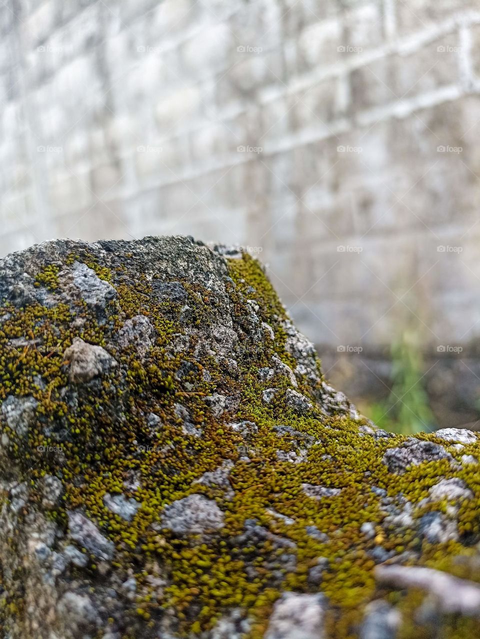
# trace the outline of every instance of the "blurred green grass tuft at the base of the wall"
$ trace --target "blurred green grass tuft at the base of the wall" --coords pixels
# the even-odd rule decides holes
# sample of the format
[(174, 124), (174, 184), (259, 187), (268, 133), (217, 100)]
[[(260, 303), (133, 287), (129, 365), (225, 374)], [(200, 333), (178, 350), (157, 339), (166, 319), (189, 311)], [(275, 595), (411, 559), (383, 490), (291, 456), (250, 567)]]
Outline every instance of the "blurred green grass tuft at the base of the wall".
[(415, 334), (405, 331), (392, 344), (392, 387), (389, 396), (370, 404), (366, 415), (380, 428), (402, 435), (435, 430), (424, 386), (424, 363)]

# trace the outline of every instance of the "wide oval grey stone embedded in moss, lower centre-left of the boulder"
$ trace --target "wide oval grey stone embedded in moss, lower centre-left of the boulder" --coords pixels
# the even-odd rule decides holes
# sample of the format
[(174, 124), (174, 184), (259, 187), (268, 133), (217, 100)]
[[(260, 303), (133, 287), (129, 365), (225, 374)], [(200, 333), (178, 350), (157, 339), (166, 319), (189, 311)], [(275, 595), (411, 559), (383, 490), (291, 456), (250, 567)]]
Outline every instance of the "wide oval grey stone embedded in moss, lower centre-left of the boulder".
[(221, 509), (203, 495), (190, 495), (166, 506), (162, 527), (176, 535), (199, 535), (219, 530), (224, 525)]

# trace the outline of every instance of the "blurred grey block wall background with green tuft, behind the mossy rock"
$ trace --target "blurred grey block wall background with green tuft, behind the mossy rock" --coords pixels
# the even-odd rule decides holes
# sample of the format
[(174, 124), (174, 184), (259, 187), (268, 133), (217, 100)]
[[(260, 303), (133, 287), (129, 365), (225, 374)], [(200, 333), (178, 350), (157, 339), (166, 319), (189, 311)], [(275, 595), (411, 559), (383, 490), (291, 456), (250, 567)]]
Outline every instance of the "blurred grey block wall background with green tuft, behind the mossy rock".
[(0, 252), (187, 234), (270, 266), (390, 428), (480, 397), (474, 0), (3, 0)]

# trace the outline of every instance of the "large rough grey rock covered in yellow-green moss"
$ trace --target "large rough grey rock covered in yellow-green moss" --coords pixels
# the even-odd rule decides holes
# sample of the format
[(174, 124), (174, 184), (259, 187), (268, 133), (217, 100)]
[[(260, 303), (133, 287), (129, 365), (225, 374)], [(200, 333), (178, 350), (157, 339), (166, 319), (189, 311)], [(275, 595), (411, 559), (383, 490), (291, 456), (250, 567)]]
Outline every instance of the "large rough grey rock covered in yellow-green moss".
[(4, 258), (0, 376), (2, 639), (480, 636), (476, 433), (360, 417), (248, 254)]

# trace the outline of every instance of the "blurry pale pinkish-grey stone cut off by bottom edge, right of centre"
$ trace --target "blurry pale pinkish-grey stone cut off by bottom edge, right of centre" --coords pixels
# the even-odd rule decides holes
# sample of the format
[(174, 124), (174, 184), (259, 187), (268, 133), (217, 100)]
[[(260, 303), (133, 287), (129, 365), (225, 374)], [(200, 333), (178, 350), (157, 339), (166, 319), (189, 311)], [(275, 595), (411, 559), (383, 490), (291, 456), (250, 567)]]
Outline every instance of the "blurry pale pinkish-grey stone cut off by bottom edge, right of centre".
[(323, 639), (325, 597), (286, 592), (275, 603), (265, 639)]

